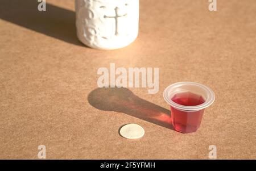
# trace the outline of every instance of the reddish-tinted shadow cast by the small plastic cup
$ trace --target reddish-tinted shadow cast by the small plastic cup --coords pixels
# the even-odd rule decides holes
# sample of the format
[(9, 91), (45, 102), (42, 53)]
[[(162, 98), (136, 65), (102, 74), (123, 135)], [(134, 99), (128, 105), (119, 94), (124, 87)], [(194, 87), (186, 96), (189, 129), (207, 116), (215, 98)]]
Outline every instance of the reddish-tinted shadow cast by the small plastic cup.
[(88, 102), (99, 110), (122, 112), (174, 130), (170, 110), (139, 98), (127, 88), (94, 89), (88, 95)]

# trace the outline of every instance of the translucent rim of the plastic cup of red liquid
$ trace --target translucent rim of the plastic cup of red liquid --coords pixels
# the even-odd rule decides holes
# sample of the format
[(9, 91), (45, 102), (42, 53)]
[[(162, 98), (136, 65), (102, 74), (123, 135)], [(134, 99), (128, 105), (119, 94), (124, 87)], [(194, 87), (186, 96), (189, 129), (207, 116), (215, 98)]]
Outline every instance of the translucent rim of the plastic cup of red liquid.
[[(180, 85), (184, 85), (184, 84), (199, 86), (201, 89), (206, 90), (207, 91), (207, 99), (205, 99), (205, 102), (202, 103), (201, 105), (185, 106), (185, 105), (179, 105), (178, 103), (172, 101), (168, 95), (168, 92), (170, 91), (170, 89), (172, 87), (180, 86)], [(164, 97), (164, 100), (172, 107), (179, 109), (179, 110), (185, 110), (185, 111), (197, 111), (197, 110), (205, 109), (206, 107), (212, 105), (212, 103), (214, 102), (214, 99), (215, 99), (215, 95), (214, 95), (212, 89), (210, 89), (209, 87), (207, 87), (203, 84), (199, 84), (197, 82), (176, 82), (175, 84), (171, 84), (170, 86), (166, 87), (166, 89), (164, 90), (163, 97)]]

